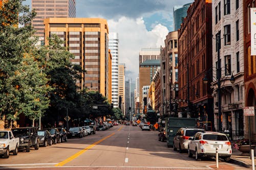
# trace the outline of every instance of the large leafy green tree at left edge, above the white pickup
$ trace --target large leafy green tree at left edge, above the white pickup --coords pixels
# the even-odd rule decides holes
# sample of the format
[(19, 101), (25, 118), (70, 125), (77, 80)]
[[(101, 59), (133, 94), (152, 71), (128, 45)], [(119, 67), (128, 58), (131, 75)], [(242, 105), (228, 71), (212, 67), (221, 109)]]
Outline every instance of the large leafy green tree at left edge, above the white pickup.
[(20, 113), (35, 119), (49, 101), (46, 75), (33, 56), (36, 38), (30, 22), (35, 12), (23, 1), (9, 0), (0, 10), (0, 115), (15, 120)]

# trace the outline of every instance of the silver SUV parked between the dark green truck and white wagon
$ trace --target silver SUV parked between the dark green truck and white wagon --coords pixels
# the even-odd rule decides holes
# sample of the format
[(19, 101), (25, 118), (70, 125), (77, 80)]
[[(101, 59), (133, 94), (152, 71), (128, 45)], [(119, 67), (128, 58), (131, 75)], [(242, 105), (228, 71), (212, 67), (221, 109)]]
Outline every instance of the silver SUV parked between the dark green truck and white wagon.
[(179, 152), (187, 150), (188, 138), (194, 136), (197, 132), (205, 132), (204, 129), (180, 128), (174, 137), (174, 151), (179, 148)]

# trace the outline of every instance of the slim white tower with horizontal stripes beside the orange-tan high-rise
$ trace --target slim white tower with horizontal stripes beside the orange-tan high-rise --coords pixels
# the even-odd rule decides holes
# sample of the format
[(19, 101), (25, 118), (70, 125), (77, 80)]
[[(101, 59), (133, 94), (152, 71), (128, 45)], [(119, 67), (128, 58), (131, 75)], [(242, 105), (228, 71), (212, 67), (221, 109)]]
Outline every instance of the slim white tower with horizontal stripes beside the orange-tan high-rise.
[(118, 107), (118, 33), (109, 34), (109, 49), (112, 55), (112, 103)]

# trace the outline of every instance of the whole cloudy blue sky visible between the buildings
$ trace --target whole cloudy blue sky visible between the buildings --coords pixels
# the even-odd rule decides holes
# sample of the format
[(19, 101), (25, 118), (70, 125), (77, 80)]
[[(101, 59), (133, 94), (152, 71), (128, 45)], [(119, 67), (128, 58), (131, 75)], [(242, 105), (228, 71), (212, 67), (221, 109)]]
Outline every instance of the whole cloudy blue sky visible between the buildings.
[[(191, 0), (76, 0), (76, 17), (100, 17), (108, 21), (109, 32), (119, 36), (119, 63), (125, 63), (125, 77), (139, 77), (139, 51), (164, 46), (174, 31), (173, 8)], [(31, 0), (24, 2), (31, 5)]]

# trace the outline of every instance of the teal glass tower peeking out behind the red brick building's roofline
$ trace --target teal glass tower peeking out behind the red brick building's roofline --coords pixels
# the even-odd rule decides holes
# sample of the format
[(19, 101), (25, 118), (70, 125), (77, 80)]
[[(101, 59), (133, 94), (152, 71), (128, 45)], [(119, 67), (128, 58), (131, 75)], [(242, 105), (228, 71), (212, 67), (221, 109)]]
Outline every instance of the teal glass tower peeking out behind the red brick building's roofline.
[(185, 4), (183, 6), (174, 6), (174, 31), (180, 28), (181, 23), (187, 16), (187, 9), (191, 3)]

